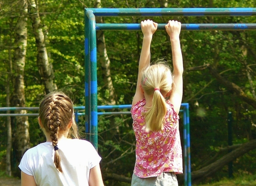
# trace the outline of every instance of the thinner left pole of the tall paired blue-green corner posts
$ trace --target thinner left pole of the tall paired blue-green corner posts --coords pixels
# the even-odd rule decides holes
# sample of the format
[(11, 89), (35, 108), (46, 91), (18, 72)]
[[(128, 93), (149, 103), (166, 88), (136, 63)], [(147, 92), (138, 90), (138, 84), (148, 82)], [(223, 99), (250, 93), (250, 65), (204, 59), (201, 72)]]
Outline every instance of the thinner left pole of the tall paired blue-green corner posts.
[[(92, 11), (91, 11), (92, 12)], [(91, 112), (91, 99), (90, 99), (90, 20), (89, 20), (89, 13), (91, 13), (90, 10), (85, 9), (85, 40), (84, 40), (84, 53), (85, 53), (85, 60), (84, 60), (84, 67), (85, 67), (85, 133), (86, 133), (86, 139), (90, 141), (90, 136), (91, 136), (91, 117), (90, 117), (90, 112)]]

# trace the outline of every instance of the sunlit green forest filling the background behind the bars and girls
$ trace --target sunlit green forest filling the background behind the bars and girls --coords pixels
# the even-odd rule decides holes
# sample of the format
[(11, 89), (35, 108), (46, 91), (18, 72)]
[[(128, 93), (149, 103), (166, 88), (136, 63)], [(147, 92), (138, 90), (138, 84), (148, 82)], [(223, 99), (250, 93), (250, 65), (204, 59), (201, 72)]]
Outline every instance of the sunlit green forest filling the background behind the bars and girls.
[[(0, 1), (0, 107), (38, 107), (45, 94), (63, 90), (75, 106), (84, 100), (85, 7), (255, 7), (253, 0)], [(255, 23), (254, 16), (104, 17), (97, 22)], [(253, 175), (256, 167), (256, 31), (181, 31), (185, 66), (183, 103), (189, 103), (192, 181)], [(97, 31), (98, 105), (131, 104), (142, 44), (141, 31)], [(171, 46), (158, 30), (151, 59), (172, 66)], [(115, 110), (119, 111), (119, 110)], [(127, 111), (127, 110), (126, 110)], [(2, 113), (35, 113), (6, 111)], [(228, 146), (228, 113), (233, 145)], [(182, 114), (180, 115), (182, 137)], [(106, 185), (129, 185), (135, 162), (131, 115), (99, 116), (99, 154)], [(78, 126), (86, 138), (84, 117)], [(1, 174), (19, 176), (23, 153), (43, 142), (36, 117), (0, 117)], [(183, 176), (179, 176), (183, 181)]]

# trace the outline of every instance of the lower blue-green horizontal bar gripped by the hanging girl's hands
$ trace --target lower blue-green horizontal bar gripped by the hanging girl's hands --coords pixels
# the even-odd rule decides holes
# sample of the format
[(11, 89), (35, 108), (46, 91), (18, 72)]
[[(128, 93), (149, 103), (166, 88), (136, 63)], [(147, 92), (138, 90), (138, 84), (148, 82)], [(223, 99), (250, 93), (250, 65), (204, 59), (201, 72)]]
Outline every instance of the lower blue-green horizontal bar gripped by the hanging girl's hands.
[[(165, 30), (166, 24), (158, 24)], [(140, 23), (96, 23), (96, 30), (141, 30)], [(256, 30), (256, 23), (181, 24), (181, 30)]]

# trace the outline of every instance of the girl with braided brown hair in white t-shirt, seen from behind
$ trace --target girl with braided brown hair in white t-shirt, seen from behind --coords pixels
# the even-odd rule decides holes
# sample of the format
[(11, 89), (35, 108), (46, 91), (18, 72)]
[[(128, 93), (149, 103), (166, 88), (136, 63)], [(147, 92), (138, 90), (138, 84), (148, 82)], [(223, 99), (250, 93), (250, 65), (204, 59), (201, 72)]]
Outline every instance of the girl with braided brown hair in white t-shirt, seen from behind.
[(19, 165), (22, 186), (103, 186), (101, 157), (90, 142), (78, 139), (74, 117), (73, 103), (62, 92), (51, 92), (42, 99), (38, 121), (46, 142), (23, 155)]

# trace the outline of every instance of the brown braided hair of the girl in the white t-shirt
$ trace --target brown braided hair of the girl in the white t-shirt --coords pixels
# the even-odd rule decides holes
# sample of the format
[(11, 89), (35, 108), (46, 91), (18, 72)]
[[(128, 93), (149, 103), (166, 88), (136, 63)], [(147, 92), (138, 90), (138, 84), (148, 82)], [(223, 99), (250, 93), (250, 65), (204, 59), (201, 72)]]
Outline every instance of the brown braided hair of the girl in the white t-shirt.
[[(47, 94), (39, 105), (39, 118), (45, 131), (50, 133), (55, 150), (54, 165), (60, 172), (62, 168), (57, 146), (58, 139), (67, 131), (68, 136), (78, 138), (73, 106), (73, 102), (67, 95), (57, 91)], [(68, 128), (70, 122), (72, 122), (71, 130)]]

